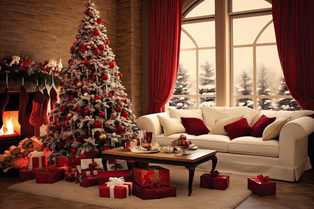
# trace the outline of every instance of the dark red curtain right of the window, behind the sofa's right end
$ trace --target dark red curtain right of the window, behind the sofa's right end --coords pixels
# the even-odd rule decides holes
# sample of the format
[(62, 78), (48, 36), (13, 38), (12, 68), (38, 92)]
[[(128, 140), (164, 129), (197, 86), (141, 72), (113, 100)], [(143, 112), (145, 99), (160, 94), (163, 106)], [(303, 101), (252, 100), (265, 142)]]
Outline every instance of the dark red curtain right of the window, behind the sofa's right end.
[[(272, 16), (286, 85), (303, 109), (314, 110), (314, 1), (272, 0)], [(314, 134), (307, 152), (314, 165)]]

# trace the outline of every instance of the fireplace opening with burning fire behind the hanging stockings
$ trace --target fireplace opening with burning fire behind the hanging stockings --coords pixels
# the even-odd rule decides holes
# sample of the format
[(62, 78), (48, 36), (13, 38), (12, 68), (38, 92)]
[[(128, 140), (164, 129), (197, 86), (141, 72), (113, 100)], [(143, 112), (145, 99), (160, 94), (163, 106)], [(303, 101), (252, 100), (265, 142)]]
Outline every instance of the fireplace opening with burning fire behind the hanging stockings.
[[(18, 119), (20, 92), (10, 92), (9, 88), (9, 101), (3, 113), (4, 125), (0, 129), (0, 153), (9, 150), (9, 147), (12, 145), (18, 146), (19, 142), (24, 138), (39, 136), (39, 130), (37, 130), (39, 128), (36, 128), (29, 123), (35, 92), (27, 92), (27, 95), (29, 101), (25, 109), (25, 125), (21, 127)], [(0, 92), (0, 98), (3, 98), (3, 92)]]

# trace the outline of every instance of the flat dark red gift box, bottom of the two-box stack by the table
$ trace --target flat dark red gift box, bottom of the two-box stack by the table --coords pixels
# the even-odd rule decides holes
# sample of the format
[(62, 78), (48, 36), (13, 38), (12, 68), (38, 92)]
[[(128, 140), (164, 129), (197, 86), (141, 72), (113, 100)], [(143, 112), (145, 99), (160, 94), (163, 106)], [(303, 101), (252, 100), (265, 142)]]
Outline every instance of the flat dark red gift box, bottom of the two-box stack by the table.
[(177, 196), (177, 188), (173, 185), (150, 188), (133, 183), (133, 195), (141, 199), (160, 199)]

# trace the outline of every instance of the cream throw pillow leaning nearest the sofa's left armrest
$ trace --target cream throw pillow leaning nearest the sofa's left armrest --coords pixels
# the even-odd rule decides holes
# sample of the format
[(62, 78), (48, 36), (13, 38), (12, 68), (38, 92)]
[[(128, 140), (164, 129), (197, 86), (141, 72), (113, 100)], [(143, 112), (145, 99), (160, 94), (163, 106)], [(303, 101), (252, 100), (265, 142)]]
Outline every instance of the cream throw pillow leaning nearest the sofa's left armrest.
[(177, 118), (167, 118), (160, 115), (157, 115), (159, 122), (164, 128), (164, 133), (166, 136), (169, 136), (174, 133), (186, 133), (187, 130), (183, 126), (181, 120)]

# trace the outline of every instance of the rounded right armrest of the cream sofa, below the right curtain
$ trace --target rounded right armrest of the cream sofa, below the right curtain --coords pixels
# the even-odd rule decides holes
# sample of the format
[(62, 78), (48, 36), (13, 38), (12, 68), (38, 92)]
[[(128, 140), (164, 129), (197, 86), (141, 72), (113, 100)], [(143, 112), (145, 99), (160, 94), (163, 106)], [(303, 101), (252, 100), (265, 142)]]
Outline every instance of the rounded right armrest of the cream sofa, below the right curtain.
[(286, 123), (279, 134), (279, 160), (283, 166), (297, 166), (307, 158), (308, 135), (314, 132), (314, 119), (300, 117)]

